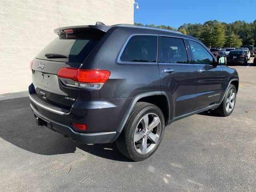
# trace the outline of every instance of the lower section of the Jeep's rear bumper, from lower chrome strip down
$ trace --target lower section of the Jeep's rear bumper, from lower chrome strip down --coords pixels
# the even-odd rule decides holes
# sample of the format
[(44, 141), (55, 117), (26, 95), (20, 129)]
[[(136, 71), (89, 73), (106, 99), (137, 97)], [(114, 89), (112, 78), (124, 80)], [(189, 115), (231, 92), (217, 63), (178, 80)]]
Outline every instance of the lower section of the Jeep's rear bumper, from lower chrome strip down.
[[(53, 131), (63, 134), (65, 137), (70, 137), (74, 142), (78, 143), (111, 143), (116, 140), (119, 136), (117, 132), (101, 132), (101, 133), (79, 133), (75, 132), (70, 126), (47, 118), (40, 114), (33, 106), (30, 104), (32, 111), (34, 112), (37, 121), (40, 120), (44, 122), (44, 125), (50, 128)], [(40, 124), (39, 124), (40, 125)]]

